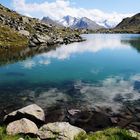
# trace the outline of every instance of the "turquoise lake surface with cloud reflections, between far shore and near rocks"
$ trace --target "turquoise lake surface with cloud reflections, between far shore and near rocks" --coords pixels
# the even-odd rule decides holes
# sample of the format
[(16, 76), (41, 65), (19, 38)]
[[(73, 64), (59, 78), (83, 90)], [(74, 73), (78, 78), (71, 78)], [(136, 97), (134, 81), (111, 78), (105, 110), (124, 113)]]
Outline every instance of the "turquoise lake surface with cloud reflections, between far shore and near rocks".
[(139, 105), (140, 35), (82, 36), (87, 41), (1, 65), (0, 109)]

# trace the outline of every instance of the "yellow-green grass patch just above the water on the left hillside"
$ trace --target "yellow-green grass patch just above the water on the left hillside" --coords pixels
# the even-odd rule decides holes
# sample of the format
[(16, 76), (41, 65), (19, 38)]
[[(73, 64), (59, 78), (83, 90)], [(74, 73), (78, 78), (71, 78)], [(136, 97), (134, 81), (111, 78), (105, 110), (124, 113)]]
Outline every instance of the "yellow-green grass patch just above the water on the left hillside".
[(4, 48), (24, 48), (28, 44), (28, 39), (18, 34), (18, 32), (0, 24), (0, 47)]

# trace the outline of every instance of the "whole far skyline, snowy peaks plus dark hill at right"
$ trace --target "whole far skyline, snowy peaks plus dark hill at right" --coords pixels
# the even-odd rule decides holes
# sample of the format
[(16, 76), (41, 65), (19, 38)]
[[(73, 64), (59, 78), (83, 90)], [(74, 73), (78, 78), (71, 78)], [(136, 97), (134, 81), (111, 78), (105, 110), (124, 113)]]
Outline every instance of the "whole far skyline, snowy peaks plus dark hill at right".
[(49, 17), (44, 17), (42, 22), (46, 22), (59, 27), (70, 27), (72, 29), (89, 29), (99, 30), (101, 32), (140, 32), (140, 13), (122, 20), (116, 27), (109, 24), (108, 20), (96, 23), (93, 20), (82, 17), (76, 18), (72, 16), (65, 16), (60, 20), (52, 20)]

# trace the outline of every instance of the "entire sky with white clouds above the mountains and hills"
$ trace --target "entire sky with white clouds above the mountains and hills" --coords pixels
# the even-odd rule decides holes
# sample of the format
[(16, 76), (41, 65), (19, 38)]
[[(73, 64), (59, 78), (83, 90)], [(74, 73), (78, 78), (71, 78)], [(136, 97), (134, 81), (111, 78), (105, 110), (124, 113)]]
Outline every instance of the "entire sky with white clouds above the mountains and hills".
[(0, 0), (0, 3), (31, 17), (88, 17), (97, 23), (117, 24), (140, 12), (140, 0)]

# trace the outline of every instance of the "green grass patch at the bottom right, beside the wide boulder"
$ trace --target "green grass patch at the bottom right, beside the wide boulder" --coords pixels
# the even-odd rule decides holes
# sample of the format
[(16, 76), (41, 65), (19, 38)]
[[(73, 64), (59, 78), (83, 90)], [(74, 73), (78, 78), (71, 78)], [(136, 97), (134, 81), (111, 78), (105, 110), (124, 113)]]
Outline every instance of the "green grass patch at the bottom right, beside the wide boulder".
[(90, 134), (80, 134), (75, 140), (139, 140), (138, 136), (132, 136), (128, 130), (109, 128)]

